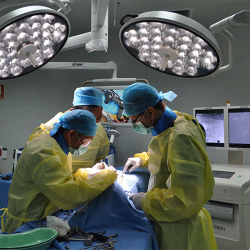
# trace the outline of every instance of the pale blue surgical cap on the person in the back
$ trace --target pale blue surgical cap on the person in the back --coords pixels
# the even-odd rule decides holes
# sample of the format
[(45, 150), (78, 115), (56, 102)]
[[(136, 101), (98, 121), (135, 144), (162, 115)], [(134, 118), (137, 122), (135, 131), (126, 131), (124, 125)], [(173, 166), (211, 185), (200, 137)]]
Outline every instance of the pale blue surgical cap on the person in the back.
[(77, 88), (74, 92), (73, 106), (102, 106), (102, 91), (92, 87)]

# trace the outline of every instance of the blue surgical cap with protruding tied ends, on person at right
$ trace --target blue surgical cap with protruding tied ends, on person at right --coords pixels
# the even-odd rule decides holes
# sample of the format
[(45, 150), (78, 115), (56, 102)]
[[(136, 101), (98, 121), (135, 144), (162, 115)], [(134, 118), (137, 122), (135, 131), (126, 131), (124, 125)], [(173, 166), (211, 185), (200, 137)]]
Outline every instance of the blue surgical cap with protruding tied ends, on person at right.
[(154, 106), (163, 98), (173, 101), (177, 95), (173, 91), (162, 93), (146, 83), (134, 83), (126, 87), (123, 92), (123, 105), (128, 116), (140, 114), (148, 107)]

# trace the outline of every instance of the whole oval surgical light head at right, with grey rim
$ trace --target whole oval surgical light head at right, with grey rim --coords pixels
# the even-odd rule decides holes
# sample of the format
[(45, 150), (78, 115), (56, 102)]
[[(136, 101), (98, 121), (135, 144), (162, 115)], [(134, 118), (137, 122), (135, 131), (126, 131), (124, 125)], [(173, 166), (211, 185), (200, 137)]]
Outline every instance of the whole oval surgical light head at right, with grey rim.
[[(124, 23), (126, 17), (133, 17)], [(165, 74), (203, 77), (220, 67), (221, 52), (212, 33), (185, 16), (152, 11), (126, 15), (120, 41), (137, 60)]]

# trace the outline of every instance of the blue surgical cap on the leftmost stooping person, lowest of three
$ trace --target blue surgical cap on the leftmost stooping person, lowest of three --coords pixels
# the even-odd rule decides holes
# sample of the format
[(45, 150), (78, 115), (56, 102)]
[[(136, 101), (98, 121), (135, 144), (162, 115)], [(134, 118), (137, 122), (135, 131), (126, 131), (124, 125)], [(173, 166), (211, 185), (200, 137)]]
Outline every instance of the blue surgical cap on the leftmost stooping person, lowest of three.
[(68, 130), (74, 129), (79, 134), (89, 136), (95, 136), (97, 129), (95, 116), (82, 109), (68, 111), (60, 116), (59, 122), (54, 124), (50, 135), (55, 135), (60, 127)]

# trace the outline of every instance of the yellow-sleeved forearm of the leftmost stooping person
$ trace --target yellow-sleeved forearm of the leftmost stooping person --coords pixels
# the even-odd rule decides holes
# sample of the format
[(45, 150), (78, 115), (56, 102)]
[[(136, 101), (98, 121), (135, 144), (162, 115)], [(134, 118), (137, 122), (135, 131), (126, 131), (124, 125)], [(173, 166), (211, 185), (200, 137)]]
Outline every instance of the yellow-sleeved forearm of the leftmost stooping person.
[[(92, 201), (114, 183), (117, 177), (116, 173), (109, 169), (102, 170), (91, 179), (86, 178), (88, 171), (83, 171), (81, 176), (72, 176), (68, 171), (55, 175), (51, 171), (45, 173), (44, 168), (39, 170), (43, 170), (42, 173), (36, 172), (34, 176), (38, 189), (64, 210), (74, 209)], [(41, 182), (41, 179), (44, 181)]]

